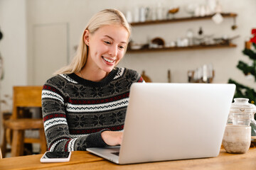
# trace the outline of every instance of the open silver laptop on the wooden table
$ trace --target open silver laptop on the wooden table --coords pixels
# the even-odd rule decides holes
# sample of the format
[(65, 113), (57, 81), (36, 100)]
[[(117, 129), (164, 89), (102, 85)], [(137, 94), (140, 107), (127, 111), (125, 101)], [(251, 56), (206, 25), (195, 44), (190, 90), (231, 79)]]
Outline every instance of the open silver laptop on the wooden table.
[(134, 83), (121, 147), (88, 148), (117, 164), (217, 157), (234, 84)]

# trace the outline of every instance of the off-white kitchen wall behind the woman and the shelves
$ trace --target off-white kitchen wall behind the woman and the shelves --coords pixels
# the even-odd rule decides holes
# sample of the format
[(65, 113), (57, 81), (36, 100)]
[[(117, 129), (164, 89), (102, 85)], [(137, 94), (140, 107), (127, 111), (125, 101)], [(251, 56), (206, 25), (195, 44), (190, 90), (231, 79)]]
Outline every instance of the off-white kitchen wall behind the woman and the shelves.
[[(33, 59), (33, 26), (36, 24), (68, 23), (69, 56), (74, 55), (73, 47), (78, 45), (82, 30), (92, 14), (103, 8), (117, 8), (121, 11), (132, 10), (136, 6), (156, 6), (161, 2), (164, 6), (180, 6), (176, 17), (186, 16), (184, 6), (191, 0), (0, 0), (0, 26), (4, 39), (0, 42), (0, 52), (5, 60), (6, 76), (2, 81), (1, 96), (11, 94), (14, 85), (32, 84), (31, 60)], [(194, 0), (196, 4), (205, 4), (205, 0)], [(213, 21), (189, 21), (184, 23), (168, 23), (158, 26), (139, 26), (133, 28), (132, 39), (146, 42), (146, 38), (161, 36), (168, 40), (184, 37), (188, 28), (198, 31), (203, 27), (204, 33), (215, 37), (228, 35), (240, 38), (233, 42), (238, 47), (214, 50), (187, 50), (178, 52), (151, 52), (127, 54), (120, 63), (122, 67), (146, 70), (146, 74), (155, 82), (167, 81), (167, 70), (171, 69), (172, 82), (186, 82), (188, 69), (196, 69), (202, 64), (213, 63), (215, 69), (214, 82), (227, 82), (231, 77), (249, 86), (255, 82), (245, 79), (245, 76), (235, 66), (238, 60), (247, 61), (242, 55), (245, 37), (250, 36), (250, 30), (256, 27), (256, 1), (220, 0), (224, 12), (238, 13), (237, 30), (231, 30), (232, 18), (225, 18), (220, 25)], [(65, 59), (63, 59), (65, 60)], [(49, 62), (50, 64), (50, 62)], [(58, 69), (58, 68), (56, 68)]]

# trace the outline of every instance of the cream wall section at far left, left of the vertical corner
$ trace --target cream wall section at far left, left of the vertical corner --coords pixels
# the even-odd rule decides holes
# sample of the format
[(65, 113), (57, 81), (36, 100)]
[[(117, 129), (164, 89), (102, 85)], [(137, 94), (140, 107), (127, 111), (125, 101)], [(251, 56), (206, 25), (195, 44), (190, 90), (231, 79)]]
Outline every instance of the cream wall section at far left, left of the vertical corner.
[[(0, 53), (4, 58), (4, 80), (0, 81), (0, 98), (8, 100), (10, 104), (1, 105), (0, 111), (11, 108), (11, 99), (4, 95), (11, 96), (12, 86), (27, 84), (26, 25), (26, 0), (0, 0), (0, 29), (4, 34), (0, 40)], [(0, 130), (0, 142), (1, 136)]]

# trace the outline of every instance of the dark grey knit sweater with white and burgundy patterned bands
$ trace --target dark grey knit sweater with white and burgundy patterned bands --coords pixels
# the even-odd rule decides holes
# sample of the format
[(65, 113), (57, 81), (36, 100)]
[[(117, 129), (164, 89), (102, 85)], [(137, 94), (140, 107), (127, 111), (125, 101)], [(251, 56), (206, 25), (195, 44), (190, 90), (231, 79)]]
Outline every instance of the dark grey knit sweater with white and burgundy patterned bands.
[(76, 74), (59, 74), (42, 91), (48, 150), (74, 151), (105, 147), (101, 132), (124, 128), (132, 83), (144, 81), (132, 69), (116, 68), (95, 82)]

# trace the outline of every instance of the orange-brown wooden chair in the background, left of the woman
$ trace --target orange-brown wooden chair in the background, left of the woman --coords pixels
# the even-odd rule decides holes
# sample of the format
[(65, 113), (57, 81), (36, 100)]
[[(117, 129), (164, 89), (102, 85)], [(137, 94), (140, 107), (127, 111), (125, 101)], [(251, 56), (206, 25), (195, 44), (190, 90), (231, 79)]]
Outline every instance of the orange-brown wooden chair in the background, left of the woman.
[[(20, 108), (41, 108), (41, 93), (43, 86), (14, 86), (13, 113), (11, 119), (4, 121), (4, 129), (13, 131), (11, 142), (11, 157), (23, 155), (24, 143), (40, 143), (41, 153), (46, 152), (46, 137), (43, 130), (43, 119), (24, 118), (23, 110)], [(39, 130), (40, 138), (25, 138), (25, 130)], [(4, 142), (6, 140), (4, 139)], [(5, 150), (6, 145), (3, 145)]]

